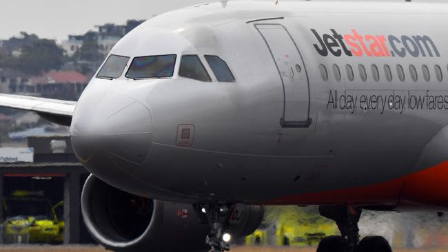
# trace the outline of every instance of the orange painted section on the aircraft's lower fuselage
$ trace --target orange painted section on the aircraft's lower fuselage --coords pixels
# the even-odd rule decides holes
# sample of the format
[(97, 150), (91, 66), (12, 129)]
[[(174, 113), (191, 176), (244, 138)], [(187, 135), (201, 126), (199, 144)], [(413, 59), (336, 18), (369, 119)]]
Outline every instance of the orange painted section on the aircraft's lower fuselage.
[(266, 204), (389, 205), (398, 202), (448, 207), (448, 161), (376, 185), (303, 193), (269, 200)]

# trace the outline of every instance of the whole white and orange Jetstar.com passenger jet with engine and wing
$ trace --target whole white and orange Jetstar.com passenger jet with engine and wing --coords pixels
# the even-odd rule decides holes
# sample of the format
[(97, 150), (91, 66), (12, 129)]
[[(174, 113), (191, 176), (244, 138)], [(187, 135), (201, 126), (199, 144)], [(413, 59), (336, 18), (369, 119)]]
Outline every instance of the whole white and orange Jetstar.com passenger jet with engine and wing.
[(341, 233), (318, 252), (391, 251), (360, 240), (363, 210), (448, 207), (447, 21), (446, 3), (203, 3), (123, 37), (79, 101), (0, 105), (70, 126), (106, 249), (227, 251), (266, 205), (318, 205)]

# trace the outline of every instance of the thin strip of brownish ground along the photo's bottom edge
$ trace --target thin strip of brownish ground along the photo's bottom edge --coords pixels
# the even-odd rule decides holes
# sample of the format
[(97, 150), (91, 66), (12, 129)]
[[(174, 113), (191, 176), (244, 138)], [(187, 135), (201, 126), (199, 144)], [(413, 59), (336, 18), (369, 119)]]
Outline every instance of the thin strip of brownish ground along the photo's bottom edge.
[[(105, 252), (101, 246), (0, 246), (1, 252)], [(269, 246), (238, 246), (232, 252), (316, 252), (316, 248), (299, 247), (269, 247)], [(448, 252), (448, 248), (425, 248), (425, 249), (394, 249), (394, 252)]]

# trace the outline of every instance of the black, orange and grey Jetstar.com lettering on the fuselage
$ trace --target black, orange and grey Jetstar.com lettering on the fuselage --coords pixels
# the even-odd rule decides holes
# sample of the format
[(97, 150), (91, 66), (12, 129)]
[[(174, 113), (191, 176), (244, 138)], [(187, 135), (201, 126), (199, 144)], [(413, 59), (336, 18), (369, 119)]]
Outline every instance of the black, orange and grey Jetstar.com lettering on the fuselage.
[(393, 36), (393, 35), (362, 35), (355, 29), (351, 34), (341, 35), (334, 29), (332, 34), (322, 36), (311, 29), (318, 43), (314, 44), (316, 51), (327, 56), (375, 56), (375, 57), (405, 57), (408, 54), (414, 57), (440, 57), (434, 41), (429, 36)]

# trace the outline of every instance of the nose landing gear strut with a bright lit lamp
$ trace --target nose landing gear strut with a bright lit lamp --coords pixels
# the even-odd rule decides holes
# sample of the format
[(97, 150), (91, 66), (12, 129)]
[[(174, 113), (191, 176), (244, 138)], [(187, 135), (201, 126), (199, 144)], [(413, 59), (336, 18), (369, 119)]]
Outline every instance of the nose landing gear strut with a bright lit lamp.
[(205, 243), (212, 248), (212, 252), (230, 251), (229, 220), (233, 205), (202, 205), (200, 211), (207, 216), (207, 221), (212, 229), (205, 238)]

